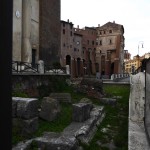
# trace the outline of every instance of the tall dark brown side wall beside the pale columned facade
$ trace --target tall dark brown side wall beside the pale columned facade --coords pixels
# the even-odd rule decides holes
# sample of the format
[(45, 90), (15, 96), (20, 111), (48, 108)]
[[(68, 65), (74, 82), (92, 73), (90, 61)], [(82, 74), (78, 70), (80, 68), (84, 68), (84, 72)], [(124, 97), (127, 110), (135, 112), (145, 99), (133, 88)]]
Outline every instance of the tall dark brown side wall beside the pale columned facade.
[(45, 64), (60, 62), (60, 0), (40, 0), (39, 57)]

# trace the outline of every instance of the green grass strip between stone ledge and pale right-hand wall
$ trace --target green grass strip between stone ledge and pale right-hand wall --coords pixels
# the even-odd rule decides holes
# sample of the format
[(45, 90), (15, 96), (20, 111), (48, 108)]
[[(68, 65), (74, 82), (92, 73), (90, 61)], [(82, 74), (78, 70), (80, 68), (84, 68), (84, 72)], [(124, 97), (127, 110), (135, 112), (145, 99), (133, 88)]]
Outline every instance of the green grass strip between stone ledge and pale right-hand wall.
[[(109, 96), (122, 96), (118, 99), (115, 107), (105, 105), (106, 117), (98, 127), (98, 130), (90, 142), (89, 146), (82, 144), (85, 150), (106, 150), (103, 144), (110, 143), (112, 140), (116, 150), (128, 149), (128, 102), (129, 85), (104, 85), (104, 92)], [(108, 132), (102, 132), (107, 128)], [(99, 145), (98, 143), (102, 143)]]

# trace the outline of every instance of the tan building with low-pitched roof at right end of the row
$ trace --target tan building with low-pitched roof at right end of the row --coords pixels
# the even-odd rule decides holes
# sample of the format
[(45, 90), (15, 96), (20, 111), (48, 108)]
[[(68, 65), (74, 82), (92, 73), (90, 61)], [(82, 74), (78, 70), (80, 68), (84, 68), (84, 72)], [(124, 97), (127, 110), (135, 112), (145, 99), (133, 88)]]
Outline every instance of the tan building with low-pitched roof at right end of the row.
[(98, 26), (96, 62), (103, 75), (123, 73), (124, 62), (124, 27), (115, 22)]

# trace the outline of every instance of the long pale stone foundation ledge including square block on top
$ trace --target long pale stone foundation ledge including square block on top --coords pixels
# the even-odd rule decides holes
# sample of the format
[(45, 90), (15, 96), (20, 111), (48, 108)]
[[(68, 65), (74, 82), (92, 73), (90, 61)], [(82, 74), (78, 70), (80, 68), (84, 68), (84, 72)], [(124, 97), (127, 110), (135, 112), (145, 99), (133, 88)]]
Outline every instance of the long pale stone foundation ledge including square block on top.
[(97, 126), (105, 117), (104, 107), (85, 101), (73, 104), (72, 123), (63, 132), (45, 132), (43, 136), (18, 143), (12, 150), (80, 150), (79, 141), (89, 144)]

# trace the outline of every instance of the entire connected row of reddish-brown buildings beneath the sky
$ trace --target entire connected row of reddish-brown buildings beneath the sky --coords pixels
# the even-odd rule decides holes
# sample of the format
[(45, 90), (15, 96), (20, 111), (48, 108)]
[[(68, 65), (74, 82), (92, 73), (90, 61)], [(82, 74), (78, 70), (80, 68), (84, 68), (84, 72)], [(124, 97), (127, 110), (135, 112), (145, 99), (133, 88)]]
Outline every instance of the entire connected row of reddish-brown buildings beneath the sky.
[[(74, 32), (75, 34), (71, 36), (70, 32)], [(61, 64), (63, 64), (63, 66), (68, 64), (73, 76), (95, 75), (99, 72), (100, 75), (109, 78), (111, 74), (123, 73), (123, 34), (123, 26), (116, 24), (115, 22), (108, 22), (103, 26), (85, 27), (80, 29), (79, 26), (74, 28), (69, 20), (68, 22), (61, 21)], [(77, 57), (75, 56), (77, 53), (75, 48), (75, 35), (81, 35), (82, 41), (81, 45), (79, 44), (81, 50), (79, 49), (78, 53), (80, 54), (78, 55), (78, 63)], [(65, 60), (67, 59), (66, 56), (70, 61)], [(81, 74), (78, 74), (75, 71), (79, 69), (77, 69), (76, 65), (72, 65), (74, 63), (81, 64)], [(79, 67), (79, 65), (77, 66)]]

